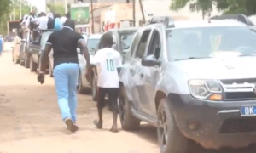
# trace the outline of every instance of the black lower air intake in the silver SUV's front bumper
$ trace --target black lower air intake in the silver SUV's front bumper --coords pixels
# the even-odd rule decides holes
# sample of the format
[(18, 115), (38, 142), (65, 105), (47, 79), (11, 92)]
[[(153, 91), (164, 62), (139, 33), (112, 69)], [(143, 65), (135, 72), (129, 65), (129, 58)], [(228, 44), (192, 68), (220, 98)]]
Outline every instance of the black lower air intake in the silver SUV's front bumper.
[(228, 119), (224, 121), (219, 133), (256, 133), (256, 117)]

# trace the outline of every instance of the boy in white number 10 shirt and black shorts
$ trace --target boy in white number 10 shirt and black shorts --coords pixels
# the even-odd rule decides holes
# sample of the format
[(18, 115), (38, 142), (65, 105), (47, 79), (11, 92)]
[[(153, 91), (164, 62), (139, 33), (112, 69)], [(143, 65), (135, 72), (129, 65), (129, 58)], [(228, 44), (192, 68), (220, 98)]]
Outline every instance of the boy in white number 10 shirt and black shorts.
[(111, 132), (117, 133), (117, 117), (119, 97), (119, 70), (122, 67), (122, 58), (118, 51), (111, 48), (113, 46), (113, 37), (110, 34), (103, 36), (103, 48), (98, 50), (92, 58), (93, 64), (96, 65), (98, 74), (98, 99), (97, 109), (99, 120), (95, 120), (94, 124), (98, 128), (102, 128), (102, 110), (105, 106), (105, 96), (108, 94), (108, 105), (113, 112), (113, 126)]

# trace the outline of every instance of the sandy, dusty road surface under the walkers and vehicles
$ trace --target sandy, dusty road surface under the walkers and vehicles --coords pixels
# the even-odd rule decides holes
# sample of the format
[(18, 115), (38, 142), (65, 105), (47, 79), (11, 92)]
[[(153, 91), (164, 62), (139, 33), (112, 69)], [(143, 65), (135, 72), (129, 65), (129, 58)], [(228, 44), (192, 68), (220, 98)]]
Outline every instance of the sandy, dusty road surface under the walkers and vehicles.
[[(0, 153), (159, 153), (155, 128), (110, 133), (111, 115), (106, 111), (104, 129), (92, 125), (95, 103), (90, 95), (79, 95), (78, 133), (69, 133), (61, 121), (53, 79), (44, 85), (36, 74), (11, 62), (11, 54), (0, 57)], [(195, 149), (196, 148), (196, 149)], [(256, 149), (239, 150), (255, 153)], [(192, 147), (188, 153), (230, 153)]]

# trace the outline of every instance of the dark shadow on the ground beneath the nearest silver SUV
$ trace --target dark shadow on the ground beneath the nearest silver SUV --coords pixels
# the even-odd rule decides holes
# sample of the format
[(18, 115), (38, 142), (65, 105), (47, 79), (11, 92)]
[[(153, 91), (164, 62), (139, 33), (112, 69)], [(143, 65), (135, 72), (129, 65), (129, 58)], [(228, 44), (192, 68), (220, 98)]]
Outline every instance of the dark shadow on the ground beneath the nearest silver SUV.
[[(148, 124), (141, 125), (140, 130), (131, 132), (133, 134), (136, 134), (137, 136), (145, 139), (146, 141), (150, 142), (151, 144), (155, 144), (158, 146), (157, 141), (157, 133), (156, 128), (153, 126), (150, 126)], [(251, 146), (247, 148), (241, 148), (241, 149), (221, 149), (221, 150), (207, 150), (202, 148), (199, 144), (196, 144), (193, 141), (189, 141), (188, 151), (186, 153), (255, 153), (256, 152), (256, 144), (252, 144)]]

